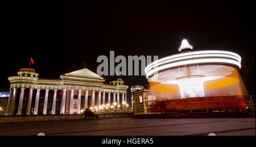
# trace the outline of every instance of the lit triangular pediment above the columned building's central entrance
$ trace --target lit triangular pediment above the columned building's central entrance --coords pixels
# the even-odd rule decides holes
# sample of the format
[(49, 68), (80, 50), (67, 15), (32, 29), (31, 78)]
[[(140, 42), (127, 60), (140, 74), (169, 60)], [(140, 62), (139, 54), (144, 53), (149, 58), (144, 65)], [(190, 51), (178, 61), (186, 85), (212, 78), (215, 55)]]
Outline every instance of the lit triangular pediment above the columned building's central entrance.
[(89, 69), (80, 69), (76, 70), (74, 72), (61, 74), (60, 78), (63, 79), (63, 77), (73, 77), (73, 78), (85, 78), (85, 79), (98, 79), (100, 81), (105, 81), (106, 79), (101, 77), (100, 75), (92, 72)]

